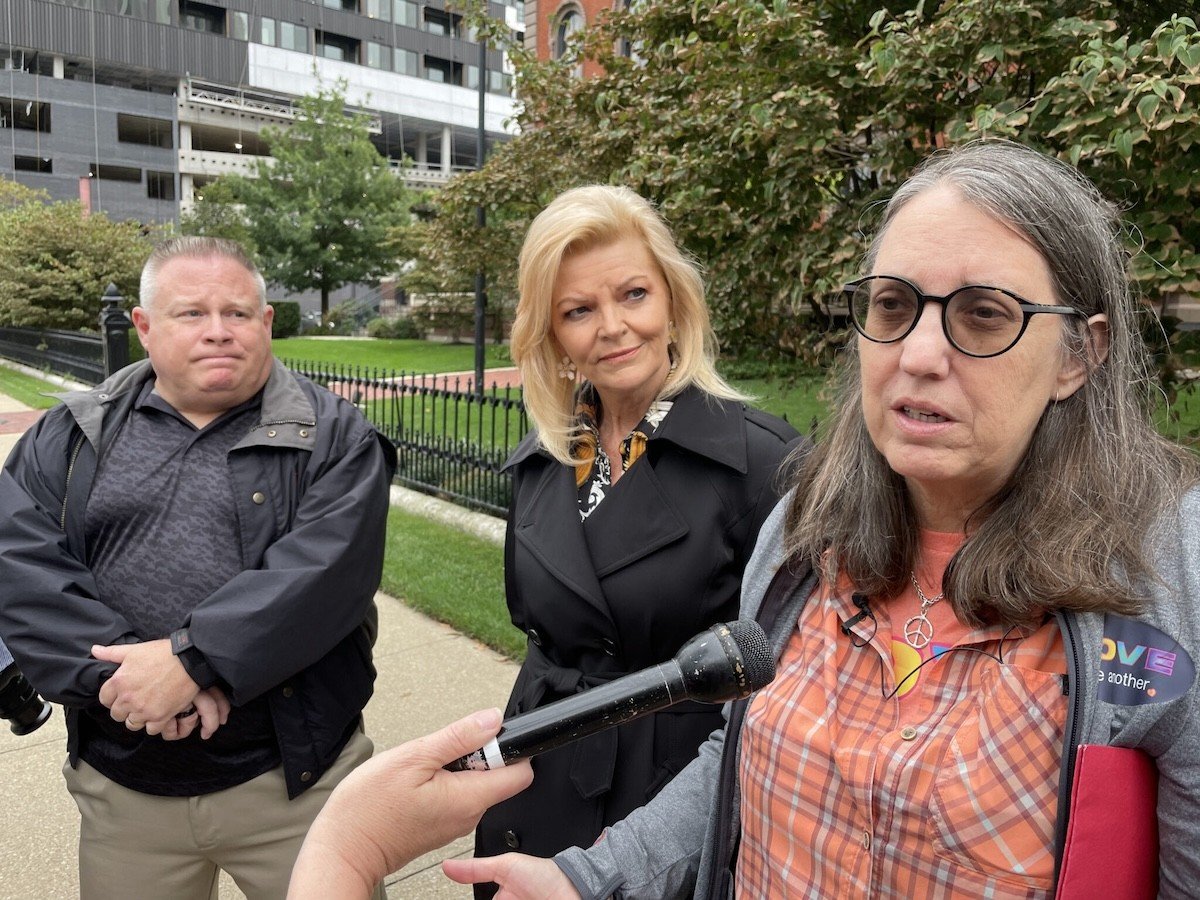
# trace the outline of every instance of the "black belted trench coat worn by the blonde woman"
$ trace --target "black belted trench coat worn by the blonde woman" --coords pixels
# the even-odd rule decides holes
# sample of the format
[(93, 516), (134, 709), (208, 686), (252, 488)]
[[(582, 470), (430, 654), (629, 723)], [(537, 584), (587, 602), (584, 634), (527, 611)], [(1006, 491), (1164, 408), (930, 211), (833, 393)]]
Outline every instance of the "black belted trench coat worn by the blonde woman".
[[(535, 434), (505, 463), (514, 482), (505, 588), (512, 624), (528, 637), (505, 715), (662, 662), (692, 635), (737, 618), (742, 570), (799, 436), (696, 388), (674, 401), (646, 455), (586, 523), (574, 472)], [(589, 846), (654, 797), (720, 724), (719, 706), (686, 701), (536, 757), (533, 785), (484, 816), (476, 856)]]

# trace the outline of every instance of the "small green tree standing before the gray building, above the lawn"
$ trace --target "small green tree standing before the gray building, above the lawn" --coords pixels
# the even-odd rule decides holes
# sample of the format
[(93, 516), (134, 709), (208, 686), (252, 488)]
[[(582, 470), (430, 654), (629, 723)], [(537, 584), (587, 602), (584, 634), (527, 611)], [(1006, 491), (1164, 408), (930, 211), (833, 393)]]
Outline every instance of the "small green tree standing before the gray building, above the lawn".
[(386, 238), (408, 220), (403, 180), (368, 122), (346, 109), (344, 85), (300, 98), (290, 126), (263, 132), (271, 157), (254, 162), (252, 178), (210, 185), (185, 230), (244, 241), (269, 282), (319, 290), (326, 314), (331, 292), (395, 268)]

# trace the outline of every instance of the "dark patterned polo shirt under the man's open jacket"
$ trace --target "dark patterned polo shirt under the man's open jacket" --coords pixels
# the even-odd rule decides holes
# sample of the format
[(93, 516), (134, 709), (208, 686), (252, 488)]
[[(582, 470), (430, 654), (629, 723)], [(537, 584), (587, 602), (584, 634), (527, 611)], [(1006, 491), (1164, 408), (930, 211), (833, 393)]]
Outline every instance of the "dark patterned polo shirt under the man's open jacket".
[[(244, 568), (227, 456), (259, 419), (262, 394), (197, 428), (143, 388), (100, 461), (85, 516), (101, 601), (138, 637), (168, 637)], [(218, 684), (220, 686), (220, 684)], [(103, 707), (79, 719), (79, 756), (143, 793), (192, 797), (280, 764), (266, 697), (235, 707), (208, 740), (131, 732)]]

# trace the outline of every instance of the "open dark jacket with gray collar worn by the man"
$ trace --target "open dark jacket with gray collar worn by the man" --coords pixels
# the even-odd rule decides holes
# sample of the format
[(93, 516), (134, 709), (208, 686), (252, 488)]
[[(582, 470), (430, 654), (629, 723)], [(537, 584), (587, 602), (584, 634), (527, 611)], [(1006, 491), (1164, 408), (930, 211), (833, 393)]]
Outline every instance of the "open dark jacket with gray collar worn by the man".
[[(65, 395), (0, 474), (0, 634), (42, 695), (67, 707), (72, 766), (78, 708), (98, 703), (116, 668), (91, 646), (140, 640), (98, 601), (84, 510), (110, 426), (150, 377), (134, 364)], [(290, 797), (337, 758), (371, 697), (395, 461), (352, 404), (278, 361), (259, 424), (229, 452), (244, 570), (179, 626), (234, 706), (268, 695)]]

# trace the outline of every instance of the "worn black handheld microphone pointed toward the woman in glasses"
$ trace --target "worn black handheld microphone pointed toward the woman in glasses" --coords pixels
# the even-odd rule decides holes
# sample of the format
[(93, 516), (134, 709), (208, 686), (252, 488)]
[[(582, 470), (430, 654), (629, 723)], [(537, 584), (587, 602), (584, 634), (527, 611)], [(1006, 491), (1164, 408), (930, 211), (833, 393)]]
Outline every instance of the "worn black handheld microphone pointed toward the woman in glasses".
[(498, 769), (684, 700), (740, 700), (774, 677), (775, 658), (757, 622), (713, 625), (672, 660), (509, 719), (487, 746), (445, 768)]

